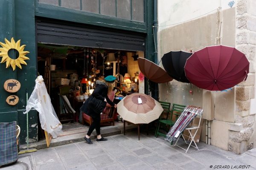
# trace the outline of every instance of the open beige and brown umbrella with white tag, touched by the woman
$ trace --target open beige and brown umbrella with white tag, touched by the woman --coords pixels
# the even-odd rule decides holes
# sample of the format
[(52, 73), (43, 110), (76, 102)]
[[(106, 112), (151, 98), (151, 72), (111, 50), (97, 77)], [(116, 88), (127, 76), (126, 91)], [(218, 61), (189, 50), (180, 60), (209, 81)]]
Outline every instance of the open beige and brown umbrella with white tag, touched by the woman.
[[(138, 98), (142, 103), (139, 103)], [(159, 118), (163, 108), (151, 96), (134, 93), (126, 96), (117, 104), (117, 112), (125, 121), (148, 124)]]

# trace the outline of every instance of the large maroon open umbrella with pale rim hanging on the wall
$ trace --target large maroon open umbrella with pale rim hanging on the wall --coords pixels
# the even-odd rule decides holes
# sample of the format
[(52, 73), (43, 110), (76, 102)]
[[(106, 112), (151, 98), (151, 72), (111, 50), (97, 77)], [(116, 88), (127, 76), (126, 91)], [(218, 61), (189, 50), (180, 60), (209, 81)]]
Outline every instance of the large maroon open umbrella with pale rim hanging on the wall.
[(186, 61), (185, 74), (199, 88), (221, 91), (247, 78), (249, 61), (236, 48), (215, 45), (192, 54)]

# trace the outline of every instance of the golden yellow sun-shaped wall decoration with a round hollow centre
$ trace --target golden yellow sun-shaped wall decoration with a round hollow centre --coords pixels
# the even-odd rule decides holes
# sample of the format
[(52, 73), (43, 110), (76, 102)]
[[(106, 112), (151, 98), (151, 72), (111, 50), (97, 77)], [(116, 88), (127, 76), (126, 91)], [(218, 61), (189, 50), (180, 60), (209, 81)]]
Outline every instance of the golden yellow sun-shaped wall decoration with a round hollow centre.
[[(15, 42), (15, 40), (11, 39), (11, 42), (9, 42), (6, 38), (4, 39), (6, 43), (0, 42), (0, 45), (2, 45), (3, 48), (0, 48), (0, 57), (3, 57), (0, 63), (6, 62), (6, 68), (9, 68), (10, 65), (12, 66), (13, 71), (16, 68), (16, 65), (18, 68), (21, 69), (20, 64), (27, 65), (27, 63), (24, 61), (26, 59), (29, 59), (29, 57), (26, 57), (25, 55), (29, 53), (29, 51), (23, 51), (26, 45), (20, 46), (20, 40)], [(17, 59), (12, 59), (8, 55), (8, 51), (11, 49), (15, 49), (19, 52), (19, 57)]]

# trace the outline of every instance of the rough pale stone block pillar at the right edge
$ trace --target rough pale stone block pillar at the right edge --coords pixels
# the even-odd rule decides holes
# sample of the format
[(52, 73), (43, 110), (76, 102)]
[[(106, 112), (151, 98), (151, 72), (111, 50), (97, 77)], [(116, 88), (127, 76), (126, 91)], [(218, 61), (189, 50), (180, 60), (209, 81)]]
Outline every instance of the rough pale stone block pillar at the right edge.
[(236, 3), (236, 48), (250, 62), (247, 80), (236, 88), (235, 123), (239, 130), (230, 130), (229, 150), (241, 154), (256, 147), (255, 57), (256, 57), (256, 1), (238, 0)]

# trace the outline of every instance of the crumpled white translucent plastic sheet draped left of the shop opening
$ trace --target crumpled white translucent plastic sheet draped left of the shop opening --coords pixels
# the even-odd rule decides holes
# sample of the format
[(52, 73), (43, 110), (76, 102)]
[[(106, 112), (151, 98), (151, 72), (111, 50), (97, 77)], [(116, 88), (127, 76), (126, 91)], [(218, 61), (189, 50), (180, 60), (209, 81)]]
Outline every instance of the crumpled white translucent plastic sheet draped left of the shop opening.
[(62, 125), (54, 111), (42, 76), (35, 79), (35, 88), (29, 97), (24, 114), (28, 113), (31, 108), (35, 108), (39, 112), (42, 129), (50, 133), (52, 138), (57, 138), (62, 131)]

